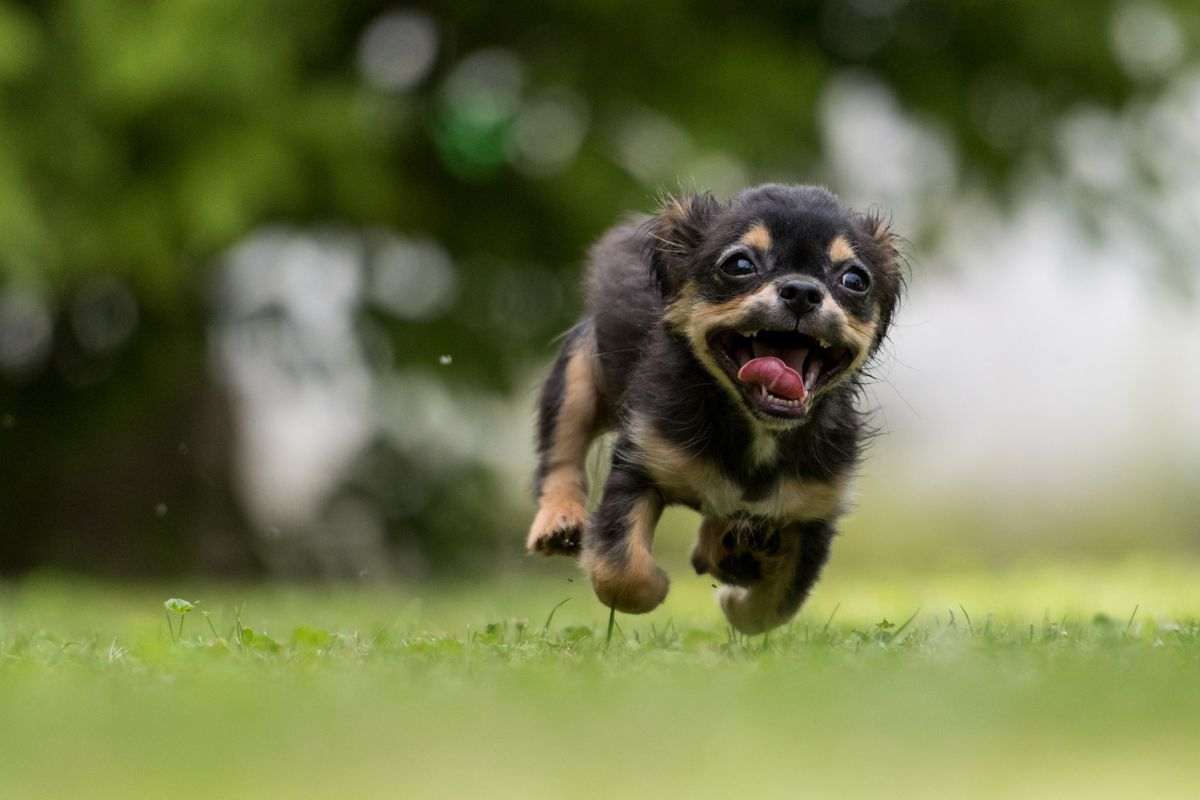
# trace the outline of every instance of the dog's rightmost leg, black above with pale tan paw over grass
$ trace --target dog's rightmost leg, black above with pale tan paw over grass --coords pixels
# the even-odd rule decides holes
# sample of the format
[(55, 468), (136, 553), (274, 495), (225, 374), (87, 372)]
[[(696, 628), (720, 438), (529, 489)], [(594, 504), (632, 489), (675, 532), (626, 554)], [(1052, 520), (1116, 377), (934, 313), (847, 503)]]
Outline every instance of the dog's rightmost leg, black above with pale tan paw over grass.
[(829, 559), (829, 523), (794, 523), (779, 534), (785, 559), (778, 569), (749, 585), (722, 585), (718, 591), (725, 618), (742, 633), (763, 633), (792, 619)]

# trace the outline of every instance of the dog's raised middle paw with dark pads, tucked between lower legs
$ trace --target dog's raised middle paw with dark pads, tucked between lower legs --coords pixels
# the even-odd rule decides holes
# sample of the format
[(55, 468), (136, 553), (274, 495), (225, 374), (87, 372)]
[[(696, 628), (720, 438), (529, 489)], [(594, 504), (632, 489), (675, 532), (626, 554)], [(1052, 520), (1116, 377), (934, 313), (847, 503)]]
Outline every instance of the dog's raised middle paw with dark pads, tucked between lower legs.
[(721, 583), (748, 587), (757, 583), (782, 555), (779, 529), (767, 519), (738, 516), (707, 517), (691, 553), (697, 575), (706, 572)]

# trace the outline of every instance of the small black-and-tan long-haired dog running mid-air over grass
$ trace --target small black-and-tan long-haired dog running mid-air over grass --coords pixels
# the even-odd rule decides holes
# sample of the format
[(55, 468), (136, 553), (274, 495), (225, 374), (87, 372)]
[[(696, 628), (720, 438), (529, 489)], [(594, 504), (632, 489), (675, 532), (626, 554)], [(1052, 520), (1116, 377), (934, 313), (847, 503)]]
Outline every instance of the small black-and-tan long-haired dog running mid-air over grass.
[[(744, 633), (791, 619), (829, 557), (869, 433), (864, 367), (904, 288), (899, 239), (824, 188), (667, 197), (590, 249), (586, 313), (538, 414), (527, 551), (578, 555), (599, 600), (640, 614), (670, 585), (670, 504), (701, 512), (692, 566)], [(584, 459), (614, 431), (589, 516)]]

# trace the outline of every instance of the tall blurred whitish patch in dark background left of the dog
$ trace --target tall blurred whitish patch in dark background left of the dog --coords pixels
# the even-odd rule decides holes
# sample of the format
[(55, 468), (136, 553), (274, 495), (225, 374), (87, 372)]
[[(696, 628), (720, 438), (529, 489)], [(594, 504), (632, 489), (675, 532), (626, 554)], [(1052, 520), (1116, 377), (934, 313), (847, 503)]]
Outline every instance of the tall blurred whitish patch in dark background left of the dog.
[(372, 379), (354, 329), (361, 251), (344, 234), (268, 229), (226, 259), (210, 347), (234, 404), (235, 469), (258, 530), (316, 519), (330, 476), (370, 438)]

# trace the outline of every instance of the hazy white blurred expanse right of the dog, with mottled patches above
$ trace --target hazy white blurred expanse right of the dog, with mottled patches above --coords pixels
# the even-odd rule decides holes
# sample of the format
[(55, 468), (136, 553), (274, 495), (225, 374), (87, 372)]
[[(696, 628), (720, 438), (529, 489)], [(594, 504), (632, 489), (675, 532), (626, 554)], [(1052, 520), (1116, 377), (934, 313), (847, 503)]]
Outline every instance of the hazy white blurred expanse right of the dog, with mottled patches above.
[(1069, 114), (1066, 173), (1031, 164), (1010, 210), (881, 85), (835, 79), (822, 115), (844, 199), (937, 242), (907, 248), (869, 476), (996, 506), (1200, 481), (1200, 73), (1120, 116)]

